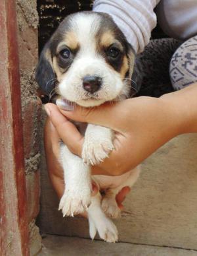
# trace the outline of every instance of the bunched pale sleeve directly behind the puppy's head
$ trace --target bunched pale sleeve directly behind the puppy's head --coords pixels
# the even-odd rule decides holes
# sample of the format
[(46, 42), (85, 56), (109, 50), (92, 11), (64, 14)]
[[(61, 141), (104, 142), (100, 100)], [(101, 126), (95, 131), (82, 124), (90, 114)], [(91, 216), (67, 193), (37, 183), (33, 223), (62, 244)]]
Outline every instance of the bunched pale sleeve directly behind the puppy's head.
[(93, 11), (108, 13), (137, 53), (143, 51), (156, 26), (154, 7), (160, 0), (95, 0)]

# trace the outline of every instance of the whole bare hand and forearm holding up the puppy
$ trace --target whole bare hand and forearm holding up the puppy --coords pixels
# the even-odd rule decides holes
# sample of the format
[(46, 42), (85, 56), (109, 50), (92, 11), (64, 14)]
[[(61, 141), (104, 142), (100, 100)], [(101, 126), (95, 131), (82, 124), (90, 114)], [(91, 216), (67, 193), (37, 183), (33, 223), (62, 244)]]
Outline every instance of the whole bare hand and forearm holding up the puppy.
[[(127, 168), (131, 170), (176, 135), (197, 132), (196, 94), (197, 84), (193, 84), (178, 92), (165, 94), (160, 99), (139, 97), (113, 106), (104, 104), (99, 108), (89, 109), (77, 107), (74, 112), (61, 110), (64, 114), (55, 105), (47, 104), (47, 112), (53, 125), (48, 118), (45, 126), (45, 150), (49, 176), (58, 196), (61, 197), (64, 192), (62, 168), (57, 160), (59, 138), (79, 156), (83, 144), (83, 137), (64, 115), (104, 125), (116, 131), (116, 151), (99, 166), (93, 166), (93, 174), (116, 175), (127, 171)], [(122, 161), (122, 156), (125, 162)], [(128, 189), (123, 189), (116, 197), (120, 207)]]

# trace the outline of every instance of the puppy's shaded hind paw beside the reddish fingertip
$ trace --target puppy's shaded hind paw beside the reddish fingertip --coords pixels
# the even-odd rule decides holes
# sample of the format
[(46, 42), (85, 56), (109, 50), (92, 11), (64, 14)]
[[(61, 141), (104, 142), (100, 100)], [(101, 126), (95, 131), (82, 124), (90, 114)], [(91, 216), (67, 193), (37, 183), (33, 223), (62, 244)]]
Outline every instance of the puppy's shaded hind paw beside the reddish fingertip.
[(101, 207), (104, 213), (110, 218), (118, 218), (121, 216), (121, 210), (115, 199), (104, 197), (104, 199), (102, 199)]

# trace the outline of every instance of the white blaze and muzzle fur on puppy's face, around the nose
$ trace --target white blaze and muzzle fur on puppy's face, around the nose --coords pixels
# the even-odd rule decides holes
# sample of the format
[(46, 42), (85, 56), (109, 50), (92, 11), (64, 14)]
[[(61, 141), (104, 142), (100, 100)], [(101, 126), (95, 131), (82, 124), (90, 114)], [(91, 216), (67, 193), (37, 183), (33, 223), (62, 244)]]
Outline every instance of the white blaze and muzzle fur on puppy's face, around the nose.
[[(98, 15), (84, 16), (83, 13), (79, 13), (72, 20), (72, 30), (77, 34), (80, 49), (58, 85), (61, 96), (84, 107), (99, 106), (128, 93), (127, 90), (125, 92), (126, 87), (120, 74), (111, 69), (96, 51), (95, 34), (99, 29), (99, 18)], [(87, 75), (95, 75), (102, 79), (102, 87), (94, 95), (83, 89), (83, 77)]]

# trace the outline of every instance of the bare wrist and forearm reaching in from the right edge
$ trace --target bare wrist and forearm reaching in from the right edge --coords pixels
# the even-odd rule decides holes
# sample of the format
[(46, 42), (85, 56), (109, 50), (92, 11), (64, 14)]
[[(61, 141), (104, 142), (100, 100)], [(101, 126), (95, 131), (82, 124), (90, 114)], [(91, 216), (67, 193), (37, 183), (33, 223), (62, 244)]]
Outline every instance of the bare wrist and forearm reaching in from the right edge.
[(162, 100), (171, 108), (175, 118), (176, 132), (197, 132), (197, 83), (191, 84), (183, 90), (165, 94)]

